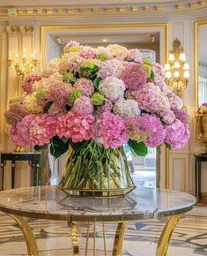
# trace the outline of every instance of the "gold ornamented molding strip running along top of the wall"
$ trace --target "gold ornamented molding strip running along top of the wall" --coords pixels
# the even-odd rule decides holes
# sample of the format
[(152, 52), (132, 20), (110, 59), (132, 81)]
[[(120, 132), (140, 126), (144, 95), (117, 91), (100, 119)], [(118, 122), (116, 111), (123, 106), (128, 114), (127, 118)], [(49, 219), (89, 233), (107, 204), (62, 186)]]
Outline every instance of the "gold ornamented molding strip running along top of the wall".
[[(83, 1), (84, 2), (84, 1)], [(176, 12), (179, 10), (179, 13), (182, 11), (197, 11), (204, 7), (206, 4), (206, 0), (182, 0), (179, 4), (176, 4), (177, 1), (170, 1), (170, 2), (160, 2), (157, 4), (144, 4), (144, 3), (137, 3), (136, 5), (130, 5), (130, 4), (122, 4), (122, 5), (115, 5), (115, 4), (97, 4), (96, 6), (90, 6), (89, 4), (83, 3), (80, 6), (75, 5), (68, 5), (68, 6), (53, 6), (53, 5), (47, 5), (45, 7), (41, 6), (21, 6), (21, 7), (12, 7), (15, 9), (16, 16), (63, 16), (67, 15), (67, 13), (73, 14), (73, 15), (90, 15), (90, 14), (97, 14), (100, 15), (112, 15), (115, 13), (136, 13), (139, 12), (141, 15), (144, 15), (144, 12)], [(4, 12), (7, 12), (5, 9)]]

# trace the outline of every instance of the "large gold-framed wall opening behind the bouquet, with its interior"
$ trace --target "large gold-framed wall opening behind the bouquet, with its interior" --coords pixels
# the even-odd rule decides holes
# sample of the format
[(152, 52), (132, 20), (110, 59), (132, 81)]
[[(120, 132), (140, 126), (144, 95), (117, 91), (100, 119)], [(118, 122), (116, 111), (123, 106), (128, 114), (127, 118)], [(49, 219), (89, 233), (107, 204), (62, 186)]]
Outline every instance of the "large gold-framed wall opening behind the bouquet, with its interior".
[[(42, 64), (59, 56), (63, 52), (66, 42), (70, 40), (94, 48), (100, 45), (119, 43), (128, 49), (140, 49), (144, 58), (164, 64), (167, 52), (166, 38), (166, 24), (41, 26)], [(156, 154), (156, 149), (149, 148), (148, 154), (144, 157), (134, 157), (129, 153), (129, 148), (125, 148), (125, 150), (137, 184), (159, 186), (160, 159)], [(136, 176), (137, 170), (139, 171), (138, 176)], [(168, 171), (167, 167), (165, 167), (165, 171)]]

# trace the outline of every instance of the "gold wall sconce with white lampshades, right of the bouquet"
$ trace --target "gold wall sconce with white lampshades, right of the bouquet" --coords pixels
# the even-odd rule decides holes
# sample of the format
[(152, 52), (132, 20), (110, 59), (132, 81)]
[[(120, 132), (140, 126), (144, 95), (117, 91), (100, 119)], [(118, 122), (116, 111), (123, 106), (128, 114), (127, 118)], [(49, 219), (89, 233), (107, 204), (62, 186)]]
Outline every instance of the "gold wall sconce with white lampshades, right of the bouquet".
[(189, 82), (189, 64), (186, 63), (186, 56), (180, 47), (181, 41), (174, 40), (165, 70), (166, 85), (181, 97)]

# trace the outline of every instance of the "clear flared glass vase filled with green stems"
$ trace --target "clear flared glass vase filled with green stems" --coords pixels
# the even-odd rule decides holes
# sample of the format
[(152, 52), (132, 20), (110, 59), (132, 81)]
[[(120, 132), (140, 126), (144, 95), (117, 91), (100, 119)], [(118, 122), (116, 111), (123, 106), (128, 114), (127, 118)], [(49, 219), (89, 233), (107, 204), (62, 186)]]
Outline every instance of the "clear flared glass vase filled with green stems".
[(90, 139), (69, 150), (58, 188), (70, 196), (123, 196), (135, 188), (123, 147), (106, 149)]

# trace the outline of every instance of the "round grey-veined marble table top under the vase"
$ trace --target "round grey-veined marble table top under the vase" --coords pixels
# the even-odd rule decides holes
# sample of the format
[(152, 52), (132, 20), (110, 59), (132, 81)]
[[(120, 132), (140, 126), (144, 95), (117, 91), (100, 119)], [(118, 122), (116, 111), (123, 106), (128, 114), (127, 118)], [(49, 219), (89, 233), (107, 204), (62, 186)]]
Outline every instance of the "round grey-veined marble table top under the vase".
[(137, 188), (124, 198), (73, 198), (55, 186), (0, 192), (0, 210), (12, 215), (67, 221), (127, 221), (179, 215), (196, 198), (185, 192)]

